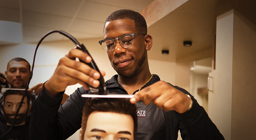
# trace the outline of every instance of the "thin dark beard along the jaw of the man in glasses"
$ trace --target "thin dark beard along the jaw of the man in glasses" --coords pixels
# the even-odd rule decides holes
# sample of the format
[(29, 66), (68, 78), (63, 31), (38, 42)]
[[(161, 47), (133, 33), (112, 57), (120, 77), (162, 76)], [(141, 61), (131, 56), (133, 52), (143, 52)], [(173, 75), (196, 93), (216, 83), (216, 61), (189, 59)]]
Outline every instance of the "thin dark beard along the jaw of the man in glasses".
[(130, 75), (123, 75), (121, 72), (118, 72), (118, 71), (115, 69), (115, 67), (113, 66), (112, 63), (111, 63), (111, 65), (112, 65), (112, 67), (115, 69), (115, 71), (118, 73), (118, 75), (120, 75), (120, 76), (122, 76), (122, 77), (124, 77), (124, 78), (132, 78), (132, 77), (136, 76), (136, 75), (139, 73), (140, 68), (141, 68), (141, 66), (144, 64), (145, 60), (146, 60), (146, 50), (144, 50), (144, 52), (143, 52), (141, 58), (139, 59), (138, 65), (135, 66), (134, 71), (133, 71)]

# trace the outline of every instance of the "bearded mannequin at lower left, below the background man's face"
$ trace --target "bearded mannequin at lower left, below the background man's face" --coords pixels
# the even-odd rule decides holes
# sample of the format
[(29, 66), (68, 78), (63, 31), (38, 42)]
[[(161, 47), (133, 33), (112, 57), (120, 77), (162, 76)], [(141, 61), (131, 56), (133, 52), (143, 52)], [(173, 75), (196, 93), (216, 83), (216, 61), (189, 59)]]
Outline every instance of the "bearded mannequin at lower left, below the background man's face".
[[(29, 131), (29, 112), (31, 108), (30, 97), (31, 94), (28, 91), (23, 102), (22, 97), (25, 91), (17, 91), (17, 90), (7, 90), (4, 95), (4, 119), (6, 122), (1, 120), (0, 134), (1, 136), (5, 134), (2, 139), (28, 139), (28, 131)], [(10, 129), (18, 106), (22, 104), (19, 109), (18, 116), (16, 117), (15, 123), (11, 131), (7, 134), (6, 132)]]

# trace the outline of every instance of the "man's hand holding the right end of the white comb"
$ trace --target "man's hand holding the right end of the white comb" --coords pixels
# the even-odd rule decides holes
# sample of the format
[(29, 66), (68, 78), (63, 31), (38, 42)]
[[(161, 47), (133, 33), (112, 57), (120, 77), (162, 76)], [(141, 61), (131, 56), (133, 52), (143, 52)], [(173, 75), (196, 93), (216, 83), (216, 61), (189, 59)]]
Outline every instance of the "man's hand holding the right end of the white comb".
[(189, 110), (190, 98), (164, 81), (158, 81), (151, 86), (141, 89), (130, 99), (131, 103), (142, 100), (145, 105), (153, 102), (164, 111), (175, 110), (182, 114)]

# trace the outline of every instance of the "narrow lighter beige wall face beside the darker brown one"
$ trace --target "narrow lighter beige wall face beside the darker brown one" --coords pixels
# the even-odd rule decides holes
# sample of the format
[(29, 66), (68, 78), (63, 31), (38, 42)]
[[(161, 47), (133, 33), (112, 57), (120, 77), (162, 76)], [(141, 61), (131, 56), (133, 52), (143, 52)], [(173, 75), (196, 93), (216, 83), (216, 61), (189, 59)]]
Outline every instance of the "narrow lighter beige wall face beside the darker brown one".
[(209, 92), (208, 113), (225, 139), (231, 136), (233, 11), (217, 17), (216, 70), (213, 92)]

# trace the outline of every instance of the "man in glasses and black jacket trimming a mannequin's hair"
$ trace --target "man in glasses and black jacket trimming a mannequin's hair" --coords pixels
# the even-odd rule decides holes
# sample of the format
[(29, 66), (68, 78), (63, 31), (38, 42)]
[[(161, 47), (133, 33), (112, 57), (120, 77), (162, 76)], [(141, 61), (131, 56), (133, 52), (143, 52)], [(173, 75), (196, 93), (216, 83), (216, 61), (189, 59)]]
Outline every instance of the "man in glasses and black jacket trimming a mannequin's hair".
[[(105, 21), (104, 39), (99, 41), (118, 73), (105, 82), (106, 91), (135, 94), (130, 102), (138, 107), (137, 139), (177, 139), (179, 130), (183, 139), (224, 139), (193, 96), (151, 74), (147, 51), (152, 41), (145, 19), (132, 10), (113, 12)], [(100, 74), (75, 58), (91, 62), (86, 53), (77, 49), (60, 59), (32, 106), (31, 139), (66, 139), (80, 128), (86, 101), (81, 94), (91, 94), (88, 85), (99, 86)], [(103, 71), (101, 74), (105, 75)], [(63, 91), (75, 83), (83, 87), (59, 108)]]

